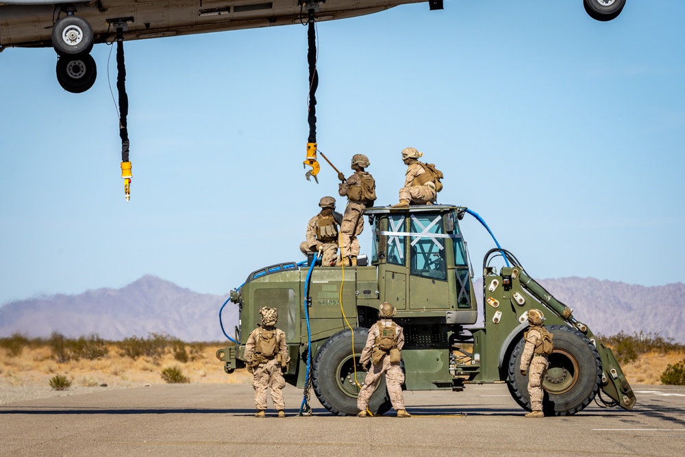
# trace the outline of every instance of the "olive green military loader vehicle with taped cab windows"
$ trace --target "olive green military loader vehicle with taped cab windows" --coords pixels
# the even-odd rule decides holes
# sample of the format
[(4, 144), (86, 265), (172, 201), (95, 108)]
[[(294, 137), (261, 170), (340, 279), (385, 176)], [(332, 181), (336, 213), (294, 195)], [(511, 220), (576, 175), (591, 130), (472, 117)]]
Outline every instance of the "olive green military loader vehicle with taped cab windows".
[[(467, 384), (506, 382), (514, 400), (530, 410), (519, 362), (527, 311), (539, 308), (555, 346), (543, 380), (545, 413), (571, 415), (595, 397), (603, 406), (632, 408), (635, 395), (611, 349), (506, 250), (492, 249), (484, 258), (482, 325), (474, 325), (479, 321), (475, 294), (481, 292), (474, 290), (459, 227), (466, 212), (477, 217), (451, 205), (369, 208), (370, 265), (360, 259), (357, 267), (322, 268), (310, 260), (254, 271), (231, 292), (240, 321), (230, 338), (235, 341), (216, 352), (225, 371), (245, 367), (245, 340), (260, 321), (259, 309), (277, 308), (277, 327), (286, 334), (291, 358), (286, 381), (304, 388), (311, 380), (327, 410), (355, 415), (365, 374), (359, 356), (379, 305), (388, 301), (404, 328), (407, 390), (461, 391)], [(499, 271), (490, 266), (499, 261)], [(369, 410), (389, 409), (382, 384)]]

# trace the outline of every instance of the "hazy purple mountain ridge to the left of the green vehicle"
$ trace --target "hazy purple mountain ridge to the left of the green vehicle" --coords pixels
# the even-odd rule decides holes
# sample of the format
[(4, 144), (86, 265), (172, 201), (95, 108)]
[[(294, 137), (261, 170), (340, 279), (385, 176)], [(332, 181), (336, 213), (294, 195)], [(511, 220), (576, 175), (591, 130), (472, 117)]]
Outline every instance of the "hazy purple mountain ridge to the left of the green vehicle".
[[(120, 288), (80, 295), (51, 295), (13, 301), (0, 308), (0, 337), (14, 332), (45, 337), (52, 332), (77, 337), (98, 334), (119, 341), (127, 336), (168, 334), (184, 341), (225, 341), (219, 309), (228, 295), (190, 291), (146, 275)], [(226, 332), (238, 323), (238, 307), (223, 310)]]

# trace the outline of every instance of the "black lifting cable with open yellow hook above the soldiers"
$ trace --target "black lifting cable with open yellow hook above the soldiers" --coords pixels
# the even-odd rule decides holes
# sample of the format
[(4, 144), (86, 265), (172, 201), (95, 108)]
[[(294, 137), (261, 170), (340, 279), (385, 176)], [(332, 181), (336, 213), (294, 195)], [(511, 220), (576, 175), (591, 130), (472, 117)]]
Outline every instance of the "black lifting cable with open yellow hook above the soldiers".
[(308, 38), (308, 52), (307, 62), (309, 63), (309, 97), (308, 97), (308, 123), (309, 123), (309, 138), (307, 140), (307, 158), (303, 162), (304, 168), (311, 166), (312, 169), (305, 173), (305, 177), (310, 181), (310, 176), (314, 177), (316, 184), (319, 184), (319, 162), (316, 160), (316, 88), (319, 87), (319, 72), (316, 71), (316, 30), (314, 23), (314, 13), (319, 11), (319, 3), (316, 1), (302, 1), (302, 4), (307, 5), (308, 21), (307, 21), (307, 38)]

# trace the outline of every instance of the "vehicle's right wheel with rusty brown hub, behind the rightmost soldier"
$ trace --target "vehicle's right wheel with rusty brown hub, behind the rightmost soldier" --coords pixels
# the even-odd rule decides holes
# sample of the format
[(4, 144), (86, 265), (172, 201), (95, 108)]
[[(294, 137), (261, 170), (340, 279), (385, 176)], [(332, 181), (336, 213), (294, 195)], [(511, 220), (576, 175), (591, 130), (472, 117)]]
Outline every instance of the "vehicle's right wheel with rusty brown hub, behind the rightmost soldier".
[[(543, 412), (549, 416), (575, 414), (593, 401), (601, 382), (601, 359), (592, 342), (574, 328), (549, 325), (554, 351), (543, 378)], [(516, 403), (531, 410), (528, 377), (519, 367), (525, 340), (521, 338), (509, 359), (507, 386)]]

